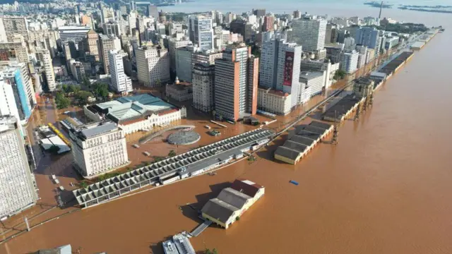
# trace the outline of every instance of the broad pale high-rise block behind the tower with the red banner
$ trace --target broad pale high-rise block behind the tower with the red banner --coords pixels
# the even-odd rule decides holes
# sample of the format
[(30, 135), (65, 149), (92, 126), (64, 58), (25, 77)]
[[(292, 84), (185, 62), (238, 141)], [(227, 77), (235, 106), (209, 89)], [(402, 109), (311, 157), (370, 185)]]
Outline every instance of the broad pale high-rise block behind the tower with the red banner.
[(305, 52), (315, 52), (325, 47), (326, 20), (303, 18), (292, 21), (292, 37)]

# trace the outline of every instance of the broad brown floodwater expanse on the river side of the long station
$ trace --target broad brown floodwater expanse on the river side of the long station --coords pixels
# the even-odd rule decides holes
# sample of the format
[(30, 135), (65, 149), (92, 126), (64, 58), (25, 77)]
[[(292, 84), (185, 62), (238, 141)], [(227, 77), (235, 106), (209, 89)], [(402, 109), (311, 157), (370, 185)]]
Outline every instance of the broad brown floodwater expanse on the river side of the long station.
[(192, 238), (196, 250), (452, 253), (451, 29), (416, 52), (359, 121), (340, 126), (338, 145), (321, 144), (296, 166), (274, 162), (270, 145), (253, 164), (74, 212), (8, 241), (0, 253), (67, 243), (81, 253), (162, 253), (160, 241), (199, 222), (186, 204), (202, 207), (238, 177), (266, 194), (230, 229), (210, 227)]

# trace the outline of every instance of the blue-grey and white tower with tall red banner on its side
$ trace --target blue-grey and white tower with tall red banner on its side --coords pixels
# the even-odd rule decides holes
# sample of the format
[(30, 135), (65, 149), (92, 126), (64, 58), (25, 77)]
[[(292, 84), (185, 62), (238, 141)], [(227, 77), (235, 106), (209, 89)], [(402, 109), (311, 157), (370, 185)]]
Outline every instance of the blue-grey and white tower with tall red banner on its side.
[(292, 106), (299, 98), (299, 63), (302, 59), (302, 46), (272, 39), (263, 42), (259, 85), (291, 94)]

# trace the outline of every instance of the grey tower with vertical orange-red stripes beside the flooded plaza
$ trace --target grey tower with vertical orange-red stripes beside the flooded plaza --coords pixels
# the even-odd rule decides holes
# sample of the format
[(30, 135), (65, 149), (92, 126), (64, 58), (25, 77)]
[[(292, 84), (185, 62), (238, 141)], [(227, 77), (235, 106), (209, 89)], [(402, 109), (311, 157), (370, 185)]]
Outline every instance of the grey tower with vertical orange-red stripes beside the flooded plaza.
[(215, 60), (215, 111), (217, 116), (237, 121), (256, 114), (258, 58), (245, 44), (230, 45)]

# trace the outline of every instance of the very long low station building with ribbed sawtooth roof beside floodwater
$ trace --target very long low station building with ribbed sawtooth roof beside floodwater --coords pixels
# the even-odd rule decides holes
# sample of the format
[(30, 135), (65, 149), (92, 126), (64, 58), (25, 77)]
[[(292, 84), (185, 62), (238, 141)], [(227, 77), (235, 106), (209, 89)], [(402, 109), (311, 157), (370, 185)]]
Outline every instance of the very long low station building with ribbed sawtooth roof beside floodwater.
[(268, 143), (273, 135), (273, 131), (257, 128), (254, 131), (226, 138), (149, 166), (90, 184), (87, 188), (74, 190), (73, 195), (76, 197), (78, 205), (89, 207), (145, 186), (167, 184), (197, 176), (211, 169), (222, 167), (232, 159), (243, 157), (244, 152), (258, 149)]

